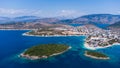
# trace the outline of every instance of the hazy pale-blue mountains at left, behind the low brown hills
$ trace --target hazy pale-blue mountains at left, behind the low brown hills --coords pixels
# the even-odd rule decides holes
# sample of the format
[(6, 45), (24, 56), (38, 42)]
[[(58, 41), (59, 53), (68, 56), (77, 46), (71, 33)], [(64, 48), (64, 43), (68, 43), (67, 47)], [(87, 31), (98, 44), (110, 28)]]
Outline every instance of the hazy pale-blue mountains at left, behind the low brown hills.
[[(0, 24), (9, 24), (9, 23), (54, 23), (58, 22), (60, 19), (57, 18), (41, 18), (37, 16), (21, 16), (10, 19), (4, 19), (4, 22), (0, 20)], [(58, 23), (59, 24), (59, 23)]]

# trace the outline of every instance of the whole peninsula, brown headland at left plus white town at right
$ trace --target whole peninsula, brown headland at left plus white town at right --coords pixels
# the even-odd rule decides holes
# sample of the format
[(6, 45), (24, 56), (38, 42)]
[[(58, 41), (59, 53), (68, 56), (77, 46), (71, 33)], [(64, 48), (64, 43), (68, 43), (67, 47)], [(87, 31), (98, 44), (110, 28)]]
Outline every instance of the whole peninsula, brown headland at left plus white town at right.
[(43, 27), (24, 33), (25, 36), (86, 36), (84, 47), (95, 50), (120, 44), (120, 31), (105, 30), (92, 24), (78, 27)]

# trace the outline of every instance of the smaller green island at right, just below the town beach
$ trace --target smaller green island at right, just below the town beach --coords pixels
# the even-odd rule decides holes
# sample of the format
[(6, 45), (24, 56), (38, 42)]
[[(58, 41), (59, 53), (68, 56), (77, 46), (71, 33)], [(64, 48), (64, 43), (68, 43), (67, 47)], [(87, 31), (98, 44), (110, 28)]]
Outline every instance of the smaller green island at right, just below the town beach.
[(94, 58), (94, 59), (103, 59), (103, 60), (110, 59), (107, 55), (102, 54), (100, 52), (94, 52), (94, 51), (85, 51), (85, 56)]

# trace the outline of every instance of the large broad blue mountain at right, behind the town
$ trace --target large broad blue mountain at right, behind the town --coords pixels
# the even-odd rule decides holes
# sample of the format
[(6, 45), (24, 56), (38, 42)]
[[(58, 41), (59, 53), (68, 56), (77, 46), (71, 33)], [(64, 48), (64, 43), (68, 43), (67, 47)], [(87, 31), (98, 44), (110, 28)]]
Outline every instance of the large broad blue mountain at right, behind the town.
[(120, 15), (112, 14), (92, 14), (78, 17), (73, 20), (72, 23), (100, 23), (100, 24), (113, 24), (114, 22), (120, 21)]

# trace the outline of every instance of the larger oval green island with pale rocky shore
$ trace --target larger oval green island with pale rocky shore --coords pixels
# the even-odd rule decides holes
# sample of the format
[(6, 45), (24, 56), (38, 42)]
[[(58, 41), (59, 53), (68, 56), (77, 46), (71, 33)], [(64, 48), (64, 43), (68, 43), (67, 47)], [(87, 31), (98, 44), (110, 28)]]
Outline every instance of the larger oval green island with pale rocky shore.
[(63, 44), (37, 45), (25, 50), (25, 52), (20, 54), (20, 57), (24, 57), (31, 60), (48, 58), (51, 56), (62, 54), (70, 48), (71, 48), (70, 46)]

